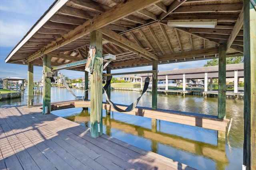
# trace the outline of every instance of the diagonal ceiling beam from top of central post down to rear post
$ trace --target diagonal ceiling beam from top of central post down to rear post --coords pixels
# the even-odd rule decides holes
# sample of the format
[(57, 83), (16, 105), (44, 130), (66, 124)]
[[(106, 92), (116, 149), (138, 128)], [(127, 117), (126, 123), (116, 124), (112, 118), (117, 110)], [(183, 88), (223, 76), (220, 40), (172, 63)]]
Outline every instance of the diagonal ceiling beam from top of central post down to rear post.
[(138, 45), (134, 44), (132, 41), (124, 38), (122, 35), (119, 35), (119, 34), (115, 33), (114, 31), (111, 31), (111, 30), (109, 30), (107, 28), (100, 28), (100, 29), (98, 29), (98, 31), (100, 31), (102, 34), (104, 34), (104, 35), (106, 35), (108, 37), (111, 37), (112, 39), (118, 41), (119, 43), (122, 43), (122, 44), (124, 44), (124, 45), (126, 45), (126, 46), (128, 46), (128, 47), (130, 47), (130, 48), (132, 48), (132, 49), (134, 49), (136, 51), (138, 51), (140, 54), (145, 55), (145, 56), (147, 56), (147, 57), (149, 57), (151, 59), (154, 59), (154, 60), (158, 61), (158, 58), (155, 55), (153, 55), (152, 53), (146, 51), (142, 47), (139, 47)]

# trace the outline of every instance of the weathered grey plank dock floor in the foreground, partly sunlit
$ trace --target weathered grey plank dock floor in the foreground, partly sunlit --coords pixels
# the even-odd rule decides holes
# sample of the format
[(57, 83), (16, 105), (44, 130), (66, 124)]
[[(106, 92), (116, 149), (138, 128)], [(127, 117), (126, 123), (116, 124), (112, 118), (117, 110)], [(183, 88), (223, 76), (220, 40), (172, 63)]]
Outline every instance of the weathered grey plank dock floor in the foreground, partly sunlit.
[(40, 107), (0, 107), (1, 170), (194, 169), (108, 135), (93, 138), (89, 128)]

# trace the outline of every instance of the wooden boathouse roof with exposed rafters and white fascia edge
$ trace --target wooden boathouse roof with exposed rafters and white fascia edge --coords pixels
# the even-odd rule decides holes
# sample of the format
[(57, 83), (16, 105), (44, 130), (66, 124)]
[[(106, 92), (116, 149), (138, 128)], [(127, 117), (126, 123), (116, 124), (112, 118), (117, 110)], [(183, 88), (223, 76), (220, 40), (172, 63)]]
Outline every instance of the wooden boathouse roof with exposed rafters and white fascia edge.
[[(103, 34), (111, 69), (243, 55), (242, 0), (56, 0), (6, 58), (6, 63), (52, 66), (84, 60), (90, 32)], [(215, 28), (168, 27), (168, 20), (217, 20)], [(74, 53), (75, 51), (75, 53)], [(72, 53), (73, 52), (73, 53)], [(70, 68), (84, 71), (84, 67)]]

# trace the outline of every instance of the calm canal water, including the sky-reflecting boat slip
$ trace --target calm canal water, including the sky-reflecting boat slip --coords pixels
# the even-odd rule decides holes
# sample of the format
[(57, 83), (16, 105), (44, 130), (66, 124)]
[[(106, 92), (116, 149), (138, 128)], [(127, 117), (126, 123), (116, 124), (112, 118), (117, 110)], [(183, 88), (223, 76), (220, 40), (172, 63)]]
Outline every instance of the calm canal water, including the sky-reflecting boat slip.
[[(82, 90), (73, 90), (82, 96)], [(139, 92), (112, 91), (115, 104), (130, 105), (140, 96)], [(90, 98), (90, 94), (89, 94)], [(21, 99), (3, 100), (0, 106), (26, 104), (26, 91)], [(63, 88), (52, 88), (51, 101), (74, 100)], [(35, 96), (35, 103), (42, 103), (42, 96)], [(105, 98), (103, 96), (103, 101)], [(145, 93), (138, 106), (151, 107), (152, 96)], [(158, 95), (158, 108), (217, 115), (217, 98), (202, 96)], [(167, 121), (157, 122), (157, 131), (151, 129), (151, 119), (103, 110), (103, 133), (150, 150), (200, 170), (240, 170), (243, 163), (244, 119), (243, 100), (226, 99), (226, 117), (233, 118), (226, 141), (218, 140), (217, 131), (181, 125)], [(90, 127), (90, 109), (82, 108), (52, 111), (53, 114)], [(228, 129), (228, 127), (227, 127)]]

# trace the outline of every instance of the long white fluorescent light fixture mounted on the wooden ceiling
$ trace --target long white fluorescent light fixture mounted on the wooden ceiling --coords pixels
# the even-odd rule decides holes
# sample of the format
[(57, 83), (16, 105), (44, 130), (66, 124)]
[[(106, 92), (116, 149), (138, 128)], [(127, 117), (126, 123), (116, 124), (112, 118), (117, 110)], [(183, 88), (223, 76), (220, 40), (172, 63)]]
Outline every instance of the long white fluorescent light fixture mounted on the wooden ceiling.
[(215, 28), (217, 20), (168, 20), (168, 27)]

